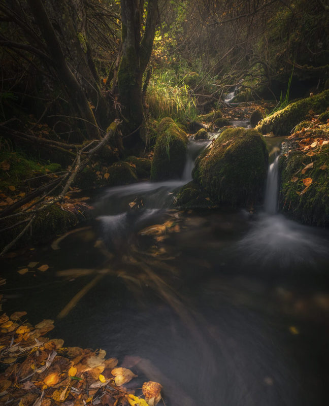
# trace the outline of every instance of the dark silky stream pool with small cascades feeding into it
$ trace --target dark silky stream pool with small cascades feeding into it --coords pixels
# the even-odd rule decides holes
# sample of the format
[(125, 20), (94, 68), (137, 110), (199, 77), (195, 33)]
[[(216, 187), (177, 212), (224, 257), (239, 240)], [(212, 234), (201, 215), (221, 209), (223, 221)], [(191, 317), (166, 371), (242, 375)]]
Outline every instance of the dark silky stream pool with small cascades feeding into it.
[[(329, 233), (276, 212), (275, 157), (264, 209), (174, 210), (208, 144), (182, 179), (105, 189), (85, 227), (5, 260), (3, 308), (55, 319), (51, 337), (118, 357), (167, 406), (329, 404)], [(18, 274), (30, 261), (49, 269)]]

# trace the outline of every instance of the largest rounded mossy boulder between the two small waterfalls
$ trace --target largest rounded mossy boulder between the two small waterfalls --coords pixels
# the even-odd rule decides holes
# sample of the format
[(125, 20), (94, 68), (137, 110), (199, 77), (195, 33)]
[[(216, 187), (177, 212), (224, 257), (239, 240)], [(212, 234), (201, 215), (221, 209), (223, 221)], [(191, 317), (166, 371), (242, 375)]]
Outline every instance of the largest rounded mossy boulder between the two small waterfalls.
[(227, 128), (197, 159), (193, 179), (218, 203), (248, 206), (262, 201), (268, 151), (258, 131)]

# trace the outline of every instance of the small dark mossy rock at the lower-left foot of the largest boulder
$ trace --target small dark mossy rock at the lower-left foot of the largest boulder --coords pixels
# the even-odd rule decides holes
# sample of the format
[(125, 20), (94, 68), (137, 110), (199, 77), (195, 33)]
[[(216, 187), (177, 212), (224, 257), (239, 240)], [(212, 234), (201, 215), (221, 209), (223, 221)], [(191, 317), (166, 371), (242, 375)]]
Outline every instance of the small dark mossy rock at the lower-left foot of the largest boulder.
[(181, 187), (174, 200), (174, 205), (179, 209), (208, 209), (215, 207), (216, 203), (200, 186), (191, 181)]

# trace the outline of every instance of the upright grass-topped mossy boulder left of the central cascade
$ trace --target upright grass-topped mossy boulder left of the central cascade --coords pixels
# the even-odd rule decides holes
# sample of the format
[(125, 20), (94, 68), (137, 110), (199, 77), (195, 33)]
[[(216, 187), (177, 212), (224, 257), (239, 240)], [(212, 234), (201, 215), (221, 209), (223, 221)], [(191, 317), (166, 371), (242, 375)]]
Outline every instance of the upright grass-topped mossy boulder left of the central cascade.
[(161, 120), (151, 164), (151, 180), (175, 179), (182, 175), (187, 143), (186, 133), (171, 118)]

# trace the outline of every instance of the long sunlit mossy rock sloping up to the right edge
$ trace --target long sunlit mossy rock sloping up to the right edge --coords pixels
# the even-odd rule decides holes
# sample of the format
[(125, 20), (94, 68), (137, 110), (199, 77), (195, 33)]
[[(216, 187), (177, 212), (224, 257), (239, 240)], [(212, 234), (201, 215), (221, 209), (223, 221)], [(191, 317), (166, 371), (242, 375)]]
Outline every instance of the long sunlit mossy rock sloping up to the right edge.
[(329, 90), (295, 101), (282, 110), (261, 120), (255, 127), (262, 134), (273, 132), (276, 136), (287, 136), (290, 131), (305, 119), (308, 112), (320, 114), (329, 106)]

